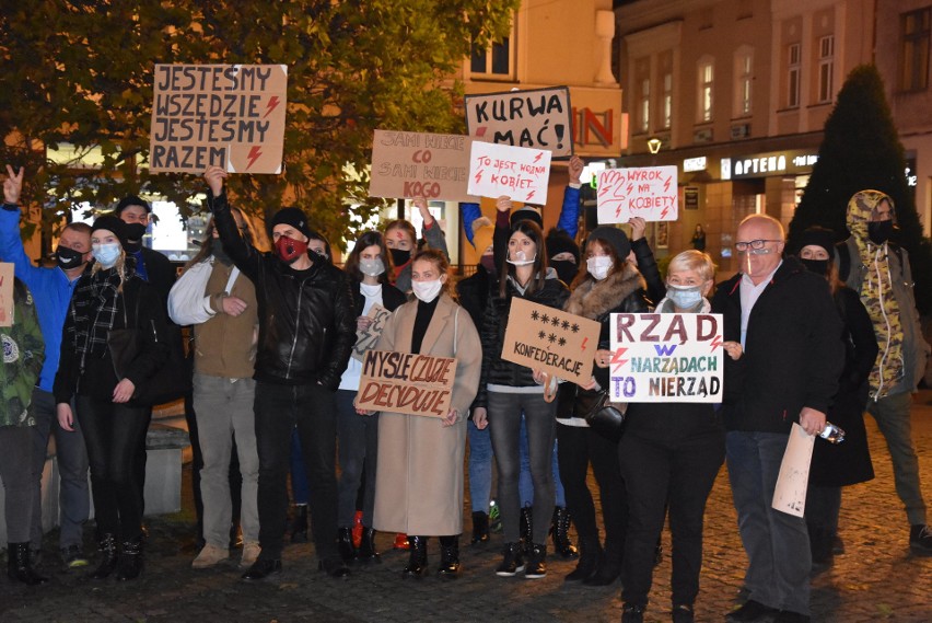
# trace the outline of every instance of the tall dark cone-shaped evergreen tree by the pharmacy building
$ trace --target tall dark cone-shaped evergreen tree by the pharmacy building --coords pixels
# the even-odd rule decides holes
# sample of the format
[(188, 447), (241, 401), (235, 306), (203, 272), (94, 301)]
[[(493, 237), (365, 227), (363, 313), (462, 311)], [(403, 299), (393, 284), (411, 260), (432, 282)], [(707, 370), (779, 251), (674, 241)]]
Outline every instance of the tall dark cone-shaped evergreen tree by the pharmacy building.
[(906, 183), (906, 158), (884, 95), (884, 84), (873, 65), (849, 73), (828, 119), (803, 198), (790, 223), (789, 247), (808, 227), (848, 236), (848, 200), (859, 191), (874, 188), (895, 204), (900, 231), (896, 242), (909, 252), (916, 299), (920, 311), (932, 308), (932, 245), (922, 234), (914, 196)]

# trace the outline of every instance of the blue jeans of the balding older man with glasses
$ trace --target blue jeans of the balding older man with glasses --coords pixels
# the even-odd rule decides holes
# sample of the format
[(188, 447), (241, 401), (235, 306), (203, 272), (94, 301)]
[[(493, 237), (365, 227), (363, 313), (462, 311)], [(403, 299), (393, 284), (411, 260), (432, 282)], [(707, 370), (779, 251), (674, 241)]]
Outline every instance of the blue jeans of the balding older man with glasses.
[(749, 599), (807, 615), (812, 553), (806, 521), (770, 507), (788, 440), (780, 432), (729, 431), (729, 480), (747, 553)]

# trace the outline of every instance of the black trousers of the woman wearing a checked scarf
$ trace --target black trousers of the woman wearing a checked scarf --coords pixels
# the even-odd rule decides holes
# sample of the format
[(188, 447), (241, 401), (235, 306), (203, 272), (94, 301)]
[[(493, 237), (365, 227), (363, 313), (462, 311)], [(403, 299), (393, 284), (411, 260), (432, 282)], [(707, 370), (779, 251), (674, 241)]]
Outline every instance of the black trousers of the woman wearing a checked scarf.
[(91, 464), (97, 537), (117, 534), (123, 541), (135, 541), (142, 533), (136, 470), (152, 409), (89, 396), (78, 396), (77, 405)]

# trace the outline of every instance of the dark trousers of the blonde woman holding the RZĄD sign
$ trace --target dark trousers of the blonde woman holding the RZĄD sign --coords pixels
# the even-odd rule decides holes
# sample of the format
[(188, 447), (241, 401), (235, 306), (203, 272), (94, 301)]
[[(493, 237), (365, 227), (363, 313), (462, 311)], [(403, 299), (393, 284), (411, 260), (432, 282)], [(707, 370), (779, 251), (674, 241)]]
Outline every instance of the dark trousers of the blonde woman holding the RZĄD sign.
[(645, 438), (628, 431), (619, 450), (628, 487), (621, 599), (627, 603), (648, 602), (654, 549), (668, 500), (673, 604), (691, 604), (699, 593), (706, 500), (725, 458), (724, 434), (715, 429), (686, 438)]

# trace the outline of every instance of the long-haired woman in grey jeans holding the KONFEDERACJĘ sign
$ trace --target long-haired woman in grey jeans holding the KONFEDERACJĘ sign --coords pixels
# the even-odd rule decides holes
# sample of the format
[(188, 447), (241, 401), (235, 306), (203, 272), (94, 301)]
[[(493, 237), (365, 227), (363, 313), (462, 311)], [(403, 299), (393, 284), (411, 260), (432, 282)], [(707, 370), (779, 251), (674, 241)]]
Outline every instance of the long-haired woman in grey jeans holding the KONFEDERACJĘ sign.
[[(556, 430), (556, 402), (548, 402), (540, 374), (531, 368), (501, 358), (511, 302), (526, 299), (561, 310), (570, 292), (547, 266), (544, 234), (537, 223), (521, 220), (511, 227), (508, 254), (499, 270), (499, 288), (486, 305), (482, 322), (482, 379), (473, 422), (491, 425), (492, 448), (499, 468), (499, 497), (504, 530), (504, 558), (496, 570), (512, 577), (524, 570), (529, 579), (547, 575), (547, 532), (554, 514), (555, 492), (551, 457)], [(540, 379), (541, 381), (544, 379)], [(534, 482), (532, 543), (526, 543), (527, 565), (519, 543), (521, 471), (519, 431), (521, 414), (527, 426), (531, 478)]]

